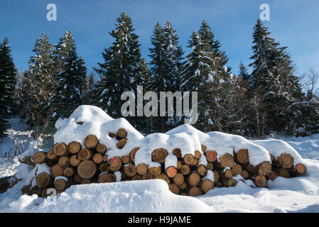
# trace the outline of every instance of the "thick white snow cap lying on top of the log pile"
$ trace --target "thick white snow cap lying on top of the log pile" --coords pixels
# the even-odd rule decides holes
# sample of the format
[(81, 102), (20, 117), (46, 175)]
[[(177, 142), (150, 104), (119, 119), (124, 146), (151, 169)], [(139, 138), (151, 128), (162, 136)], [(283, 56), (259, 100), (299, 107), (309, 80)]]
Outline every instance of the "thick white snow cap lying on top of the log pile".
[[(163, 148), (168, 155), (173, 154), (175, 148), (180, 148), (182, 157), (186, 154), (194, 155), (198, 150), (202, 153), (201, 145), (207, 150), (215, 150), (217, 159), (225, 153), (233, 155), (239, 149), (249, 150), (249, 162), (259, 165), (264, 161), (271, 161), (268, 151), (260, 145), (254, 144), (239, 135), (220, 132), (202, 133), (193, 126), (184, 124), (173, 128), (167, 133), (153, 133), (144, 137), (124, 118), (113, 119), (97, 106), (79, 106), (68, 119), (59, 119), (55, 124), (58, 131), (54, 135), (54, 143), (68, 144), (77, 141), (84, 147), (87, 135), (95, 135), (100, 143), (107, 145), (109, 159), (115, 156), (129, 155), (134, 148), (136, 152), (136, 165), (146, 163), (149, 167), (157, 166), (151, 160), (153, 150)], [(117, 148), (117, 140), (109, 137), (109, 133), (117, 133), (119, 128), (127, 131), (127, 143), (124, 148)]]

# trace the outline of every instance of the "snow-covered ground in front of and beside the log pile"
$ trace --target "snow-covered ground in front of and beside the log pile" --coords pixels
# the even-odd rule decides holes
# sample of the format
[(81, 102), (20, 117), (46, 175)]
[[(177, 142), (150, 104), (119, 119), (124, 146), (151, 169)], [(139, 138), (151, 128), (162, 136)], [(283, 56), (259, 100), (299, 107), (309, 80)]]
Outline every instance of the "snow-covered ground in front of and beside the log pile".
[[(239, 181), (236, 187), (215, 188), (193, 198), (172, 194), (158, 179), (77, 185), (55, 199), (42, 199), (21, 195), (18, 182), (0, 194), (0, 212), (319, 212), (319, 134), (285, 141), (303, 157), (308, 172), (304, 177), (277, 177), (267, 189)], [(16, 158), (0, 159), (0, 177), (19, 168)]]

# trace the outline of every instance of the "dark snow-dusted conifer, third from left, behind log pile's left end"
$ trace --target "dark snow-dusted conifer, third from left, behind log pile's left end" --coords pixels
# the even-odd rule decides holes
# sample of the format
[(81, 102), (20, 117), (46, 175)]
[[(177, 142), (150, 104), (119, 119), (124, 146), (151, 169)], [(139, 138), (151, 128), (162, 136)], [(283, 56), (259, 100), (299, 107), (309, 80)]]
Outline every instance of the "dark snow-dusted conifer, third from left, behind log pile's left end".
[(55, 45), (56, 93), (50, 97), (48, 108), (52, 109), (53, 122), (66, 118), (83, 103), (82, 89), (85, 87), (87, 68), (82, 57), (77, 57), (75, 40), (67, 31)]

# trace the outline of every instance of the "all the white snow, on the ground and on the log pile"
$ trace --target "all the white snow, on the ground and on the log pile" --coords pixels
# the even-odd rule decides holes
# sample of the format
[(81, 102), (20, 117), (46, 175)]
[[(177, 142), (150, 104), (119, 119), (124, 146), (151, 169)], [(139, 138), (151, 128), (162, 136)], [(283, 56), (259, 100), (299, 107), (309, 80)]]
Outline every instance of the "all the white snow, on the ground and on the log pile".
[[(56, 203), (53, 205), (52, 198), (22, 195), (20, 191), (23, 185), (35, 185), (34, 176), (47, 170), (46, 165), (36, 165), (35, 168), (19, 163), (16, 157), (2, 158), (0, 177), (16, 175), (17, 179), (23, 180), (0, 194), (0, 212), (319, 212), (319, 134), (306, 138), (286, 138), (284, 141), (247, 140), (239, 135), (202, 133), (186, 124), (167, 133), (153, 133), (144, 137), (123, 118), (110, 118), (104, 111), (92, 106), (80, 106), (70, 118), (58, 121), (55, 124), (59, 126), (54, 135), (55, 143), (70, 143), (71, 140), (82, 143), (88, 133), (94, 132), (100, 142), (107, 144), (107, 154), (111, 157), (139, 147), (135, 156), (136, 165), (146, 162), (148, 166), (161, 166), (151, 161), (152, 149), (166, 149), (169, 154), (167, 161), (173, 163), (174, 148), (180, 148), (182, 155), (185, 155), (200, 151), (200, 145), (203, 144), (207, 150), (216, 150), (218, 158), (224, 153), (232, 154), (233, 151), (246, 148), (249, 150), (249, 162), (253, 165), (264, 160), (270, 161), (269, 153), (275, 157), (280, 153), (288, 153), (293, 155), (295, 163), (306, 165), (307, 173), (301, 177), (268, 180), (267, 188), (252, 188), (252, 180), (244, 180), (237, 175), (233, 177), (237, 179), (235, 187), (214, 188), (194, 198), (171, 193), (168, 184), (161, 179), (119, 182), (121, 173), (115, 172), (116, 183), (72, 186), (54, 197)], [(78, 121), (84, 123), (78, 125)], [(121, 150), (116, 148), (117, 140), (108, 136), (109, 132), (116, 133), (118, 128), (128, 131), (128, 142)], [(8, 148), (9, 142), (2, 140), (1, 146)], [(30, 141), (25, 153), (34, 152), (36, 141)], [(200, 159), (200, 163), (205, 162)], [(204, 179), (213, 181), (214, 173), (207, 170)]]

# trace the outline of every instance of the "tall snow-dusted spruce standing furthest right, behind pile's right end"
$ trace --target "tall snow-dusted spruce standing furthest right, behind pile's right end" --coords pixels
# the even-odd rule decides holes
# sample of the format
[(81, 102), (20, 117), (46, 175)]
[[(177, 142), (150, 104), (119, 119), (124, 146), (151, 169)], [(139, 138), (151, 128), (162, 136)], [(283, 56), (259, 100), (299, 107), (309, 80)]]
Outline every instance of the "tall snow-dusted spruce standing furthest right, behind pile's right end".
[[(293, 62), (286, 52), (287, 47), (279, 47), (271, 38), (268, 28), (258, 19), (254, 26), (254, 60), (249, 66), (253, 67), (252, 89), (250, 97), (258, 96), (259, 113), (262, 119), (252, 119), (261, 123), (259, 137), (264, 138), (272, 131), (291, 134), (301, 127), (301, 109), (305, 96), (301, 83), (294, 75)], [(259, 93), (259, 94), (257, 94)]]

